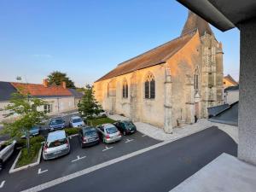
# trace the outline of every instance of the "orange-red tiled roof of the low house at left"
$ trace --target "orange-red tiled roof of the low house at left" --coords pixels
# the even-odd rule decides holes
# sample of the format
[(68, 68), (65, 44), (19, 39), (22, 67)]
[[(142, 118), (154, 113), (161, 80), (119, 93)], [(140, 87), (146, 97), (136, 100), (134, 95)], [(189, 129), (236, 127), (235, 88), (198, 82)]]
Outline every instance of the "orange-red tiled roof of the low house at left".
[(58, 85), (49, 85), (44, 87), (43, 84), (11, 84), (13, 84), (13, 86), (22, 93), (29, 93), (32, 96), (72, 96), (72, 93), (68, 89), (64, 89), (62, 86)]

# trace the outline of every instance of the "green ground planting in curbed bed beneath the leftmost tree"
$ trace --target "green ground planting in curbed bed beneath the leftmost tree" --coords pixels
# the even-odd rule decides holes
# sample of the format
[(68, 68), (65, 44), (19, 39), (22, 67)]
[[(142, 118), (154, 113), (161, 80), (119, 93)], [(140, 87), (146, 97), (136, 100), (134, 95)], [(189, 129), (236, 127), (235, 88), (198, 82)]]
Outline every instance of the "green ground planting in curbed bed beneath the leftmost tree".
[(26, 148), (22, 148), (20, 158), (17, 161), (15, 168), (18, 168), (20, 166), (26, 166), (36, 162), (38, 160), (38, 154), (41, 146), (42, 146), (41, 143), (33, 143), (31, 145), (29, 154), (27, 153)]

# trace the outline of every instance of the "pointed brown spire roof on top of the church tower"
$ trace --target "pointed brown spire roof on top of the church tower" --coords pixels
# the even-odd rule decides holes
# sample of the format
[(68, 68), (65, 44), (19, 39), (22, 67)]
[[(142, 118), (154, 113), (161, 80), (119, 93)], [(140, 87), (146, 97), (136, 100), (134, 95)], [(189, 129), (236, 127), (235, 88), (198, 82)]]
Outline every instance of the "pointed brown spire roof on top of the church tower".
[(213, 34), (212, 29), (206, 20), (203, 20), (200, 16), (195, 15), (193, 12), (189, 11), (189, 16), (185, 25), (183, 26), (181, 35), (192, 32), (196, 29), (198, 30), (200, 36), (203, 36), (205, 32), (210, 35)]

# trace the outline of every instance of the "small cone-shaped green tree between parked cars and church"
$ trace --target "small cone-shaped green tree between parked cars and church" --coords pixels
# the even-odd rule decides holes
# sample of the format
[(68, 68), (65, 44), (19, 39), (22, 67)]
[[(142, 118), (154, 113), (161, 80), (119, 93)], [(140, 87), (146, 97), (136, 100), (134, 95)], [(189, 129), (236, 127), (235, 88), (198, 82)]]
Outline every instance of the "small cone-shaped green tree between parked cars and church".
[(84, 96), (78, 104), (79, 113), (84, 118), (92, 119), (94, 114), (99, 114), (102, 106), (96, 101), (93, 88), (87, 84), (84, 90)]

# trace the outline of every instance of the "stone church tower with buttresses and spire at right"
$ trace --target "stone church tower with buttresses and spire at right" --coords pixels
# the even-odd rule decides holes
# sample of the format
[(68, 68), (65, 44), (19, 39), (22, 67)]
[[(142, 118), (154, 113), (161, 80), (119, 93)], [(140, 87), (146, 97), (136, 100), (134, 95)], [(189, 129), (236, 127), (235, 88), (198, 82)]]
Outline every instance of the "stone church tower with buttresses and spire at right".
[(189, 11), (181, 36), (196, 30), (201, 38), (201, 63), (196, 67), (198, 71), (194, 75), (195, 115), (207, 118), (207, 108), (223, 104), (224, 53), (222, 44), (215, 38), (207, 21)]

